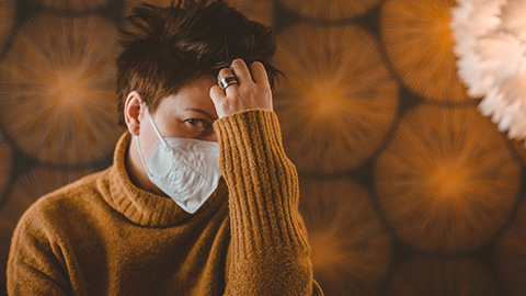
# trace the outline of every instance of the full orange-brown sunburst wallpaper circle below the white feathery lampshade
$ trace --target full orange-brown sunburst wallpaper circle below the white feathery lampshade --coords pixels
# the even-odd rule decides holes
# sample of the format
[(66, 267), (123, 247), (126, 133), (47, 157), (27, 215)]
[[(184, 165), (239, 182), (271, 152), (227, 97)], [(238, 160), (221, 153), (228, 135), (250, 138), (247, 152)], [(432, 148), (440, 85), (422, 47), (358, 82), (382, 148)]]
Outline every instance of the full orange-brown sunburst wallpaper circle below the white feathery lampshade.
[(421, 106), (402, 119), (376, 164), (390, 227), (425, 251), (455, 253), (487, 242), (514, 206), (521, 168), (476, 106)]

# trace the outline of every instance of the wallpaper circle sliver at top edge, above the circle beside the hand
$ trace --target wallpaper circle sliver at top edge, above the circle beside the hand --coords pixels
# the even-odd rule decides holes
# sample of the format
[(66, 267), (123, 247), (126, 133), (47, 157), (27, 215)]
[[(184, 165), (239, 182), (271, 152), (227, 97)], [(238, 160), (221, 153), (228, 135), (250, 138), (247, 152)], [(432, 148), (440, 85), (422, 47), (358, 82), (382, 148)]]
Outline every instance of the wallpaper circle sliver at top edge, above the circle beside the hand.
[(315, 20), (340, 21), (359, 16), (380, 0), (275, 0), (294, 12)]

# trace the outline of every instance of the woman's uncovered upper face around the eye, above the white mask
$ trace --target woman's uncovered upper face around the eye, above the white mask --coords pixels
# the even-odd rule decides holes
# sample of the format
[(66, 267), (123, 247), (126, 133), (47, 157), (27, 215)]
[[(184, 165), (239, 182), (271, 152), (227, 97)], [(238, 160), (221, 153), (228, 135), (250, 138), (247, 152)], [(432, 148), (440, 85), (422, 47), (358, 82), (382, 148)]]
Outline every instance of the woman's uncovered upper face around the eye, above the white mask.
[[(213, 124), (217, 119), (216, 109), (210, 99), (210, 88), (217, 81), (213, 77), (203, 77), (164, 98), (151, 116), (162, 137), (194, 138), (217, 141)], [(141, 119), (146, 126), (149, 144), (159, 140), (150, 121), (145, 114)]]

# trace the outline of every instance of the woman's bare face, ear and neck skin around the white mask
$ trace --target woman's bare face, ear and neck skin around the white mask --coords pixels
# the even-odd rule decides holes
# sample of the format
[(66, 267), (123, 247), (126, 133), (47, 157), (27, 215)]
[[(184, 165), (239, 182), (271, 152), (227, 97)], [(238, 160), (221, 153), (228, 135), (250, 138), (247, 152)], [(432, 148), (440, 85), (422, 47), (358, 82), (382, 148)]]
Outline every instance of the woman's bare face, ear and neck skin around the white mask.
[[(213, 129), (217, 113), (210, 99), (210, 88), (216, 84), (214, 77), (203, 77), (181, 88), (178, 93), (164, 98), (156, 112), (150, 113), (161, 136), (217, 141)], [(142, 190), (164, 195), (148, 180), (139, 156), (142, 152), (142, 158), (146, 159), (159, 137), (148, 118), (142, 99), (136, 91), (130, 92), (126, 99), (125, 116), (128, 132), (137, 136), (140, 144), (139, 150), (137, 141), (132, 141), (126, 160), (132, 182)]]

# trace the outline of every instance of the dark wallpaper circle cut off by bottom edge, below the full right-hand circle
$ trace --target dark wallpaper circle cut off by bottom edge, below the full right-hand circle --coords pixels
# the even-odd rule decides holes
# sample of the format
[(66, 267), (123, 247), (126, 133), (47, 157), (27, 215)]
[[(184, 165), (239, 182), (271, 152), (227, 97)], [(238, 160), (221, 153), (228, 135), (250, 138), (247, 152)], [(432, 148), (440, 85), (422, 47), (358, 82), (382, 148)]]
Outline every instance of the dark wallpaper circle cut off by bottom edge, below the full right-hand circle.
[(490, 270), (474, 260), (411, 259), (389, 281), (389, 296), (501, 295)]

